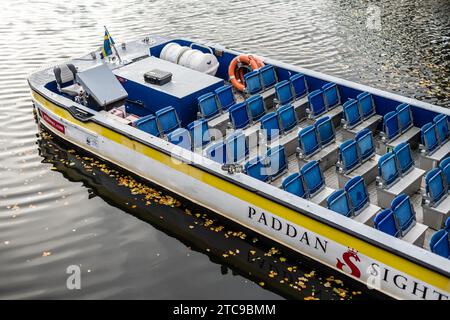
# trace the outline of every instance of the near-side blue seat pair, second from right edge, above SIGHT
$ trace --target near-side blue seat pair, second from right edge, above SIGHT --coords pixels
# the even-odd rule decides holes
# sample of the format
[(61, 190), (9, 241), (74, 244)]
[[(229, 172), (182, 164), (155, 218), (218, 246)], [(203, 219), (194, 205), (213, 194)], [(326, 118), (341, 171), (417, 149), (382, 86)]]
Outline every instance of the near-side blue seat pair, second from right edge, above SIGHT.
[(404, 237), (416, 222), (416, 213), (409, 196), (402, 193), (374, 218), (376, 229), (394, 237)]

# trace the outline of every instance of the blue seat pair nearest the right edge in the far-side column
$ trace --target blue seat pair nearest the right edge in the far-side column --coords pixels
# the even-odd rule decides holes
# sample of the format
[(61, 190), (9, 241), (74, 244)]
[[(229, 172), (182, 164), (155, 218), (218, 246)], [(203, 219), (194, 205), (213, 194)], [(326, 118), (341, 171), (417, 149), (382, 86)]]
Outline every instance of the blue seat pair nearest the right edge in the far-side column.
[(422, 146), (427, 153), (437, 150), (450, 138), (450, 117), (439, 114), (433, 118), (433, 122), (428, 122), (420, 129)]

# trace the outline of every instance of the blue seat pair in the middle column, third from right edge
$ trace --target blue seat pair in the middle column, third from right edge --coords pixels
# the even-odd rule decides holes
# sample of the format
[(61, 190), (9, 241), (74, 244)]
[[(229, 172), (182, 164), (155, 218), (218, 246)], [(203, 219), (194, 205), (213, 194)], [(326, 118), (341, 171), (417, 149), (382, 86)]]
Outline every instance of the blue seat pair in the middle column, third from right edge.
[(339, 145), (338, 166), (344, 173), (349, 173), (363, 162), (375, 155), (375, 143), (370, 129), (363, 129)]

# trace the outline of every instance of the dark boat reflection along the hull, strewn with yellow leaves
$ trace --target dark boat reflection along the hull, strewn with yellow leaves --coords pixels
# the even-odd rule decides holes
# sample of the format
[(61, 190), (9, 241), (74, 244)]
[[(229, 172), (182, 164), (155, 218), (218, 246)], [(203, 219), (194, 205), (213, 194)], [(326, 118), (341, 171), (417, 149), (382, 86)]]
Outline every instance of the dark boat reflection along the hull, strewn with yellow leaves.
[(70, 181), (83, 182), (90, 197), (99, 196), (206, 254), (221, 265), (222, 274), (240, 275), (289, 299), (386, 298), (348, 278), (341, 280), (337, 272), (213, 212), (74, 150), (46, 131), (41, 131), (38, 141), (43, 162), (52, 163), (54, 170)]

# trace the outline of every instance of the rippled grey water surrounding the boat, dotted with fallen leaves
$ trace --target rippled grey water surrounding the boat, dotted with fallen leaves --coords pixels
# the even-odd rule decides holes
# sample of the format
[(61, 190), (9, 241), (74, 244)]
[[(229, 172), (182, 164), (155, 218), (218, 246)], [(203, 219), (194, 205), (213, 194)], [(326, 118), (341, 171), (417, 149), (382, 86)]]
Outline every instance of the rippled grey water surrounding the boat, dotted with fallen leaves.
[[(42, 65), (101, 45), (107, 25), (118, 43), (149, 33), (204, 39), (449, 107), (450, 2), (371, 3), (4, 5), (0, 298), (375, 298), (307, 258), (38, 135), (26, 83)], [(372, 19), (378, 10), (381, 19)], [(70, 265), (81, 269), (81, 290), (66, 287)]]

